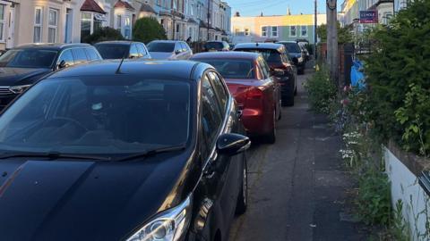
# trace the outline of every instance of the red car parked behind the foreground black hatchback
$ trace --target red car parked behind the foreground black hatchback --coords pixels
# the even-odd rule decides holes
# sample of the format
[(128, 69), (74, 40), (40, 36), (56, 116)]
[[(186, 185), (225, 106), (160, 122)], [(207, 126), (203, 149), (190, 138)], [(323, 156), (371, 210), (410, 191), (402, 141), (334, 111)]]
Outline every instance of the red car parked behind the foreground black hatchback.
[(281, 116), (280, 85), (261, 54), (212, 52), (194, 54), (191, 60), (211, 64), (224, 77), (249, 136), (275, 142), (276, 120)]

